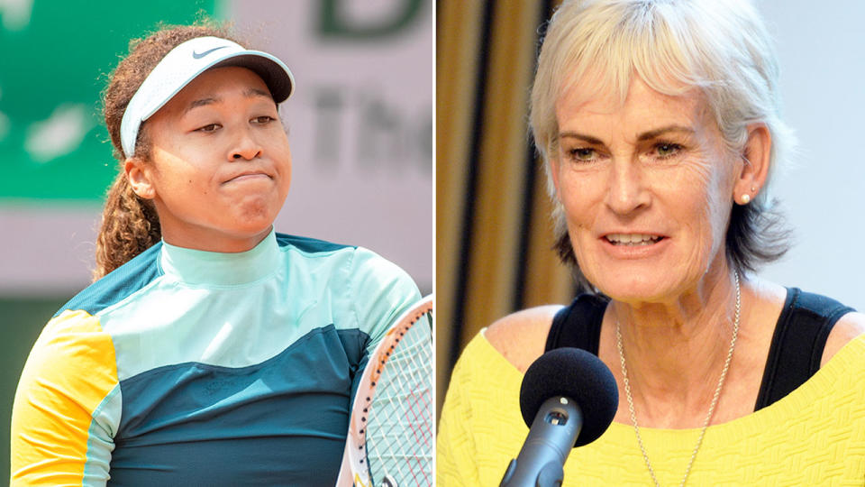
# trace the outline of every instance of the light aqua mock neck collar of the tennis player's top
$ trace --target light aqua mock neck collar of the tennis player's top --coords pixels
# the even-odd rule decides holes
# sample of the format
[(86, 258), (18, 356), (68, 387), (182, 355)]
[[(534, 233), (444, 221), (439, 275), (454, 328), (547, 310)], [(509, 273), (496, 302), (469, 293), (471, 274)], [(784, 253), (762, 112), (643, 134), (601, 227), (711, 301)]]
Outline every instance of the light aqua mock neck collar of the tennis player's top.
[(278, 269), (277, 234), (270, 234), (246, 252), (205, 252), (162, 242), (159, 263), (166, 275), (187, 284), (237, 286), (268, 277)]

